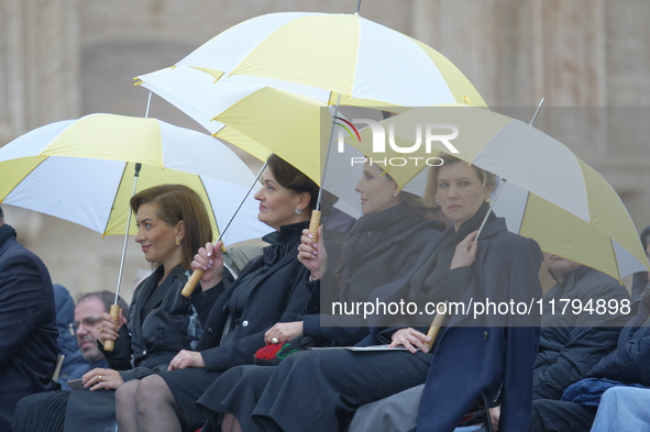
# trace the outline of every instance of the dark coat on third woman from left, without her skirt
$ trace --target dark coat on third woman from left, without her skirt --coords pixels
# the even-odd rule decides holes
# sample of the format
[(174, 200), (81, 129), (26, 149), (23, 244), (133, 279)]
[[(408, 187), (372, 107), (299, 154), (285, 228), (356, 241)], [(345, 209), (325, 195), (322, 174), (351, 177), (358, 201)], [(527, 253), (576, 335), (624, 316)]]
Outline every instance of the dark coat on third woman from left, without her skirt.
[(321, 345), (354, 345), (365, 337), (368, 328), (363, 317), (332, 315), (333, 302), (352, 304), (367, 300), (376, 287), (409, 272), (425, 245), (442, 230), (442, 222), (428, 220), (398, 204), (356, 222), (339, 266), (330, 262), (326, 241), (331, 263), (328, 272), (319, 281), (307, 283), (315, 286), (315, 297), (323, 314), (307, 314), (304, 334)]

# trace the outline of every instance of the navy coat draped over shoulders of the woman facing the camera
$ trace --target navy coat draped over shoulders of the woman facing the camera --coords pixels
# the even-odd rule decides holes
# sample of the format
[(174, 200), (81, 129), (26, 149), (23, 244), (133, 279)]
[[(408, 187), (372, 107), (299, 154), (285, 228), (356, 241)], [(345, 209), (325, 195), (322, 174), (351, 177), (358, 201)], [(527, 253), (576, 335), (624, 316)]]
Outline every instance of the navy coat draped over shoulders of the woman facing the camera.
[[(538, 244), (491, 219), (478, 239), (472, 279), (462, 298), (527, 307), (541, 297)], [(450, 273), (454, 273), (453, 270)], [(418, 431), (453, 431), (481, 392), (494, 400), (500, 391), (499, 431), (525, 431), (530, 418), (531, 376), (539, 328), (530, 315), (454, 314), (438, 336), (420, 403)]]

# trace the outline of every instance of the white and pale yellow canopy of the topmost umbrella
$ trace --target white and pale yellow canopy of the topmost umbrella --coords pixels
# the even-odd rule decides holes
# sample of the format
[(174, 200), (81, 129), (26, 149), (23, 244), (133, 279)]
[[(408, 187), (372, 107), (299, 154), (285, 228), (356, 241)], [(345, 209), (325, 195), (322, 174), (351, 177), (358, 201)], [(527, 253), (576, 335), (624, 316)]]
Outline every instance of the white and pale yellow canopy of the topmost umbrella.
[(285, 12), (253, 18), (177, 63), (216, 79), (245, 75), (399, 106), (484, 101), (440, 53), (357, 14)]

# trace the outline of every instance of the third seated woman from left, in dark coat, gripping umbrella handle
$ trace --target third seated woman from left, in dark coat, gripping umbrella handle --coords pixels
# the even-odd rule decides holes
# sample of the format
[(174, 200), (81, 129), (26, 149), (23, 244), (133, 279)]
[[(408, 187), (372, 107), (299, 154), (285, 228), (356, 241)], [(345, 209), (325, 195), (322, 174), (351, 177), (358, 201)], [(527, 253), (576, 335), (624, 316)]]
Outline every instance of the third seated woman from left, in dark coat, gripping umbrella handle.
[[(265, 335), (267, 343), (305, 335), (319, 346), (356, 344), (367, 335), (367, 325), (363, 322), (359, 326), (321, 325), (324, 317), (318, 313), (318, 304), (321, 301), (331, 304), (329, 300), (364, 301), (377, 286), (408, 272), (426, 243), (445, 228), (442, 221), (429, 219), (431, 211), (420, 198), (399, 191), (397, 184), (377, 165), (366, 163), (355, 190), (361, 195), (363, 217), (352, 228), (339, 264), (328, 265), (322, 236), (319, 236), (319, 244), (315, 244), (308, 230), (302, 233), (298, 259), (310, 272), (312, 281), (306, 284), (313, 286), (316, 304), (301, 321), (280, 322), (271, 328)], [(328, 244), (327, 239), (324, 243)], [(332, 267), (335, 268), (332, 270)], [(322, 279), (329, 280), (322, 280), (321, 275)], [(323, 301), (323, 298), (328, 300)], [(346, 317), (332, 318), (340, 322)], [(225, 412), (232, 414), (225, 416), (221, 430), (230, 431), (232, 421), (235, 421), (233, 430), (240, 428), (233, 414), (241, 419), (239, 430), (255, 430), (251, 413), (274, 369), (271, 366), (239, 366), (217, 379), (197, 402), (208, 417), (203, 432), (219, 430)]]

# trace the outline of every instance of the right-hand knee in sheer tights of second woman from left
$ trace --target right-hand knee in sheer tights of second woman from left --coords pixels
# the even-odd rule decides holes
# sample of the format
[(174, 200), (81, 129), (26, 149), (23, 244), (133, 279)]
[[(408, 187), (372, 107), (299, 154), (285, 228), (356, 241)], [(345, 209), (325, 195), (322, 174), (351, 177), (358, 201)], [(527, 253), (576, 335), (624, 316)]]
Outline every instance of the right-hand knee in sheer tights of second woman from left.
[[(180, 410), (159, 375), (143, 378), (135, 394), (140, 432), (180, 432)], [(120, 430), (121, 432), (121, 430)]]

